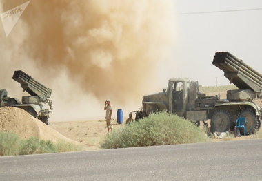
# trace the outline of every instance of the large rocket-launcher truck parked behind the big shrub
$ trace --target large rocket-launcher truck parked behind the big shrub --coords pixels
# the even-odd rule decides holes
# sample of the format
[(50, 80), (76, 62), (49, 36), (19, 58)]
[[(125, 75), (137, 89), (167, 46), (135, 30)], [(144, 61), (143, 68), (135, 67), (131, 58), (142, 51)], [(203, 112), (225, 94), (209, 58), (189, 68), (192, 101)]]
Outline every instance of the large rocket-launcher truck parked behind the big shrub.
[(143, 109), (136, 111), (136, 118), (167, 110), (196, 125), (211, 119), (211, 131), (224, 132), (234, 129), (236, 118), (242, 116), (247, 120), (247, 133), (254, 134), (261, 126), (262, 110), (253, 100), (262, 98), (262, 75), (230, 52), (216, 52), (212, 63), (239, 88), (228, 90), (227, 99), (202, 94), (198, 81), (170, 78), (163, 92), (143, 96)]

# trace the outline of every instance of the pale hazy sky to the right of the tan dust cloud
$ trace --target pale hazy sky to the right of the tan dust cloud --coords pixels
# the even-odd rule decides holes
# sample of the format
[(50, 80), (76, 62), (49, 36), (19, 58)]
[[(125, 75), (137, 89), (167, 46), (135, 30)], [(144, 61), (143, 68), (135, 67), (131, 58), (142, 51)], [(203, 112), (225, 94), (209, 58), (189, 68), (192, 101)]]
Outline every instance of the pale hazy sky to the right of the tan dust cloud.
[(163, 66), (168, 77), (188, 77), (200, 85), (227, 85), (223, 72), (212, 65), (214, 53), (229, 51), (262, 73), (262, 10), (212, 14), (181, 14), (262, 8), (261, 0), (176, 0), (177, 43), (174, 61)]

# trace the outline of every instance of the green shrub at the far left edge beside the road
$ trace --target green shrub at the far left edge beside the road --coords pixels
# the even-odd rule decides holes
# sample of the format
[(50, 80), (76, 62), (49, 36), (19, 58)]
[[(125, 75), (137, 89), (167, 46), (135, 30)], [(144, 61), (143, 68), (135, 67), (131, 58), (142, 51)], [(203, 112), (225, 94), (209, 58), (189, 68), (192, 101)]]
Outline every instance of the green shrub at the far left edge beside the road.
[(15, 156), (19, 152), (20, 139), (17, 134), (0, 132), (0, 156)]

